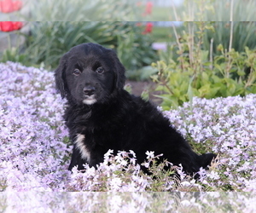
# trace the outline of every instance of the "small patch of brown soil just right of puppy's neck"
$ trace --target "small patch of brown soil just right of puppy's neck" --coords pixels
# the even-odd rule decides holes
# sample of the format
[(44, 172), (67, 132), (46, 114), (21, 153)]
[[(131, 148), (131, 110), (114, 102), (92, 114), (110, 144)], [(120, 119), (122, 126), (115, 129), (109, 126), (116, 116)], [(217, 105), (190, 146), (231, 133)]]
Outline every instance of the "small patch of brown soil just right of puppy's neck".
[(156, 97), (155, 95), (160, 95), (160, 92), (154, 91), (156, 88), (156, 83), (153, 83), (151, 81), (131, 81), (126, 80), (125, 84), (131, 85), (131, 93), (133, 95), (140, 96), (142, 95), (143, 91), (148, 91), (149, 94), (149, 101), (154, 102), (156, 105), (160, 105), (161, 99), (159, 97)]

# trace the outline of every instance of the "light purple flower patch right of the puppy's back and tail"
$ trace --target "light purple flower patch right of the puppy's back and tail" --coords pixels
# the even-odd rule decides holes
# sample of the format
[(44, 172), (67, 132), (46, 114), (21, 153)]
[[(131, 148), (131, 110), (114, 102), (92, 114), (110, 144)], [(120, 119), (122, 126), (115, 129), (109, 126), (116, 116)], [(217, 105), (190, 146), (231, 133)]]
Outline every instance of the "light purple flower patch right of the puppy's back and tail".
[(216, 189), (229, 186), (256, 191), (256, 95), (213, 100), (195, 97), (192, 105), (184, 103), (163, 113), (195, 145), (218, 153), (217, 168), (208, 173), (201, 170), (201, 181)]

